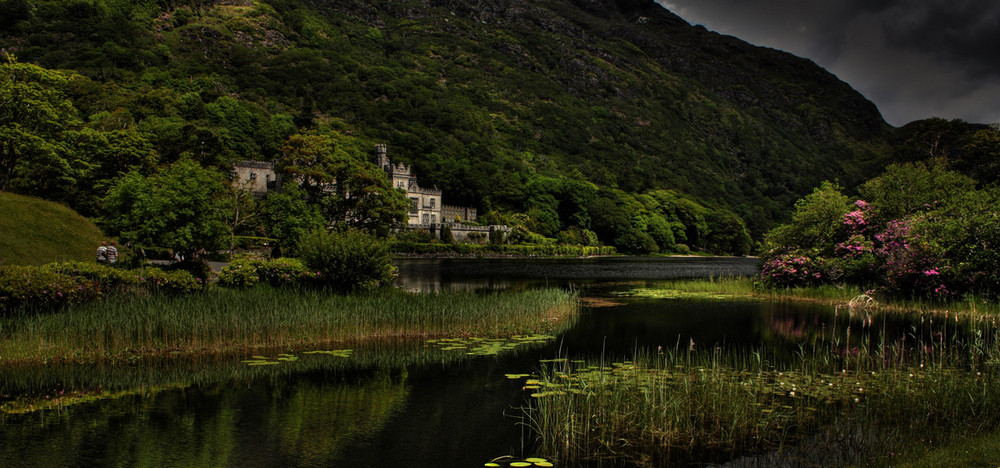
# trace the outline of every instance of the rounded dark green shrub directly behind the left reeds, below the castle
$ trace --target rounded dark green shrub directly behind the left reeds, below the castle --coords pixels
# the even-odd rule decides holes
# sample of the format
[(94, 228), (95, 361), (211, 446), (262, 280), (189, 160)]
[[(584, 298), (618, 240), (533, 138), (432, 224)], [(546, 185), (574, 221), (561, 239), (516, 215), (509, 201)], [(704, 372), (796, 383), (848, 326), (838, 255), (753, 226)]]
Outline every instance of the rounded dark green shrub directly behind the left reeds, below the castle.
[(375, 289), (396, 276), (388, 244), (359, 231), (315, 229), (303, 236), (299, 253), (319, 284), (338, 291)]

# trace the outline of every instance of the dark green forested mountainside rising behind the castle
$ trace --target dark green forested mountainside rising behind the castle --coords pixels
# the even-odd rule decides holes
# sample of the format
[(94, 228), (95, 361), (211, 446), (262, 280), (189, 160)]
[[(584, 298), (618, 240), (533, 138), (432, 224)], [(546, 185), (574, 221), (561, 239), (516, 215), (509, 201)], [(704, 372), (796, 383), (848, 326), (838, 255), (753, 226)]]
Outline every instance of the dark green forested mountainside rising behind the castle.
[(544, 236), (743, 253), (821, 181), (924, 143), (651, 0), (3, 0), (0, 47), (0, 189), (89, 216), (129, 171), (225, 174), (314, 132)]

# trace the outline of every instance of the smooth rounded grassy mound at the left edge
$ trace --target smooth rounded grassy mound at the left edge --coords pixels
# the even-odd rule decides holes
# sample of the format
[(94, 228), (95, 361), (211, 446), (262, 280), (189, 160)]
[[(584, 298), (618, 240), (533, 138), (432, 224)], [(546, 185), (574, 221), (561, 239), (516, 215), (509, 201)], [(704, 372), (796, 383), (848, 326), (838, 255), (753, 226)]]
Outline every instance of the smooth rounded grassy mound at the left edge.
[(0, 192), (0, 264), (94, 260), (105, 239), (83, 216), (58, 203)]

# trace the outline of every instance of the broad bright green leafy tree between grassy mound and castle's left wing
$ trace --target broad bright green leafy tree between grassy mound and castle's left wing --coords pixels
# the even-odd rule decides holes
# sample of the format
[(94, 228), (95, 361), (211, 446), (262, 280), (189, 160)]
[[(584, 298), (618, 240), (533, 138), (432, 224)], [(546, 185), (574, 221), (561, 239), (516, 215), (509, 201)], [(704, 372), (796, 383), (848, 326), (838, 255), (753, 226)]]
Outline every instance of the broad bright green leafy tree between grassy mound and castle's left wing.
[(150, 176), (133, 170), (102, 200), (107, 232), (124, 242), (191, 253), (225, 245), (222, 176), (183, 159)]

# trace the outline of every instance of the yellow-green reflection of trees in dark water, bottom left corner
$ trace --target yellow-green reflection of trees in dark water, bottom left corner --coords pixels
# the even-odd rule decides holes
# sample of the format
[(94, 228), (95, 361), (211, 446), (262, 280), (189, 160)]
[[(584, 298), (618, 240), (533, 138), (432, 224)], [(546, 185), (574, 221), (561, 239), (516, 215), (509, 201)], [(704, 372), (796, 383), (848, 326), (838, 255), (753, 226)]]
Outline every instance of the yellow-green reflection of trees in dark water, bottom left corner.
[(3, 466), (334, 466), (405, 407), (405, 374), (194, 385), (8, 418)]

